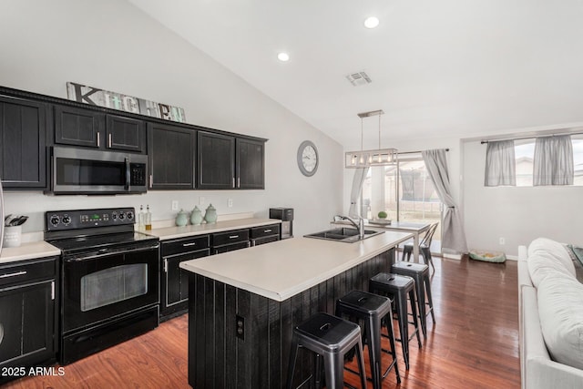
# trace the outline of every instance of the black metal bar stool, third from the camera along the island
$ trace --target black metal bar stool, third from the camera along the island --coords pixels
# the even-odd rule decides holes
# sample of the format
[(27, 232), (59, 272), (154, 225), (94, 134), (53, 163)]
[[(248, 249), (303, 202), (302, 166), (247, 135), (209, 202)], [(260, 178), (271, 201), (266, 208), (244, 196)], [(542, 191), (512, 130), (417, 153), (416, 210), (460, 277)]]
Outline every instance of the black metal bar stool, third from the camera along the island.
[[(419, 322), (417, 321), (417, 308), (415, 307), (415, 282), (411, 277), (393, 273), (378, 273), (369, 280), (369, 292), (376, 294), (387, 293), (393, 297), (399, 322), (399, 333), (403, 346), (403, 359), (406, 370), (409, 370), (409, 341), (417, 336), (417, 343), (421, 348), (421, 336), (419, 336)], [(409, 336), (409, 319), (407, 312), (407, 294), (411, 302), (411, 312), (413, 313), (414, 332)]]

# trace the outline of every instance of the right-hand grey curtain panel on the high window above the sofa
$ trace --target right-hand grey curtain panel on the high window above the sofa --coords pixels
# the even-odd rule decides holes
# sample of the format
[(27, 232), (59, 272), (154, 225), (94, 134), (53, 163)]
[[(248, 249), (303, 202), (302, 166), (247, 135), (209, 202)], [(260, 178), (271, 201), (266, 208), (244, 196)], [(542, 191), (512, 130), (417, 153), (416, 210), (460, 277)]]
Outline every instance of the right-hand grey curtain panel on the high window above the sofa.
[(533, 185), (573, 185), (574, 169), (570, 135), (537, 138)]

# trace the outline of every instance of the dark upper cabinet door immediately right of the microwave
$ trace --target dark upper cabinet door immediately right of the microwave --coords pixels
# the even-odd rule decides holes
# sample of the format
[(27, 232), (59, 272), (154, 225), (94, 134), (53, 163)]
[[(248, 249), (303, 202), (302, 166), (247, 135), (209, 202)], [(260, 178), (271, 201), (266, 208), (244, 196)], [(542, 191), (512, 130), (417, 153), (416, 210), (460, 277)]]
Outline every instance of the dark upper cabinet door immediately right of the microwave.
[(197, 131), (148, 123), (148, 189), (194, 189)]

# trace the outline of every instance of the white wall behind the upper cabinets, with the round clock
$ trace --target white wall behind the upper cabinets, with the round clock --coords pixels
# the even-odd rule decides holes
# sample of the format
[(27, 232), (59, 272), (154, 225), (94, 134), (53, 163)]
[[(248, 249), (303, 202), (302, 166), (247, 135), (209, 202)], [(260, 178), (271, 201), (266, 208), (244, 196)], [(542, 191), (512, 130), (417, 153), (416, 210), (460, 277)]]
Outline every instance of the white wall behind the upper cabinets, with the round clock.
[[(117, 0), (5, 0), (0, 52), (0, 85), (5, 87), (66, 98), (66, 82), (73, 81), (183, 107), (191, 124), (269, 138), (265, 190), (150, 191), (116, 197), (6, 193), (6, 212), (30, 215), (26, 232), (44, 229), (46, 210), (149, 204), (154, 220), (167, 220), (175, 213), (171, 200), (190, 210), (199, 204), (199, 196), (219, 215), (253, 211), (267, 217), (270, 207), (292, 207), (296, 235), (326, 228), (342, 210), (343, 150), (336, 141), (133, 5)], [(316, 144), (321, 157), (312, 178), (302, 176), (296, 164), (297, 148), (305, 139)], [(231, 209), (228, 199), (233, 200)]]

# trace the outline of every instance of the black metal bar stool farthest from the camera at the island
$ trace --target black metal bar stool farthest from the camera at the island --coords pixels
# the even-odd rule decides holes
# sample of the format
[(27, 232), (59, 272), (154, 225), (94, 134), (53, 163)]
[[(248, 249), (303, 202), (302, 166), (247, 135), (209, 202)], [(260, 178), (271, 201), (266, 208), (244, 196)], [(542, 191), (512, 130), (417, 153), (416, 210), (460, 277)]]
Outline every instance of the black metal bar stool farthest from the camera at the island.
[[(431, 312), (431, 317), (435, 324), (434, 302), (431, 298), (431, 281), (429, 279), (429, 266), (422, 263), (411, 263), (399, 261), (391, 266), (394, 274), (407, 275), (414, 279), (415, 292), (417, 294), (417, 308), (419, 309), (419, 321), (423, 336), (427, 338), (427, 315)], [(429, 309), (425, 312), (425, 306)]]

